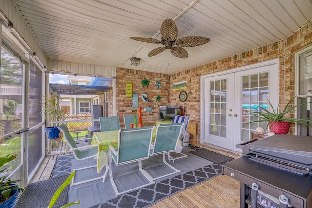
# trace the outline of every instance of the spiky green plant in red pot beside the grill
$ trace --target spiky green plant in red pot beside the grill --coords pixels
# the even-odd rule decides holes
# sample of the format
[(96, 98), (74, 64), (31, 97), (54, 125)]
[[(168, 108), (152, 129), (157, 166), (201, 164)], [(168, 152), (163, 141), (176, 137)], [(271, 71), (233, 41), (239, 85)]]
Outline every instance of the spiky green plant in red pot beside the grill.
[(309, 120), (307, 120), (307, 119), (298, 119), (298, 118), (287, 118), (287, 117), (284, 117), (284, 115), (286, 113), (291, 112), (296, 107), (301, 106), (301, 105), (306, 105), (308, 103), (312, 103), (312, 102), (302, 103), (302, 104), (295, 105), (295, 106), (292, 106), (292, 107), (288, 108), (289, 104), (292, 102), (292, 100), (294, 98), (295, 97), (293, 97), (286, 104), (285, 108), (280, 113), (279, 113), (279, 104), (277, 105), (277, 108), (274, 109), (269, 100), (268, 100), (268, 103), (271, 106), (271, 109), (272, 109), (273, 112), (268, 111), (267, 109), (265, 109), (262, 106), (257, 106), (257, 107), (260, 108), (259, 111), (247, 111), (247, 110), (245, 110), (247, 113), (249, 113), (249, 114), (251, 114), (251, 115), (253, 115), (253, 116), (258, 118), (258, 120), (250, 121), (250, 122), (248, 122), (246, 124), (258, 123), (258, 122), (267, 122), (267, 125), (266, 125), (265, 129), (267, 129), (268, 126), (269, 126), (270, 132), (273, 132), (273, 133), (276, 133), (276, 134), (287, 134), (288, 131), (289, 131), (289, 127), (291, 125), (291, 122), (305, 124), (305, 125), (307, 125), (309, 127), (312, 127), (312, 125), (308, 123)]

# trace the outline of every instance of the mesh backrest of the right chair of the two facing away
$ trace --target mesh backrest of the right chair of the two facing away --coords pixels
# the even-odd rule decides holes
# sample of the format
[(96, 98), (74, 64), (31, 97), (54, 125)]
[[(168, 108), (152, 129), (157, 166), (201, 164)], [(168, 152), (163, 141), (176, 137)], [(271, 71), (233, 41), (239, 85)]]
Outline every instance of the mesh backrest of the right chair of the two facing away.
[(159, 124), (151, 155), (175, 151), (183, 126), (185, 126), (184, 123)]

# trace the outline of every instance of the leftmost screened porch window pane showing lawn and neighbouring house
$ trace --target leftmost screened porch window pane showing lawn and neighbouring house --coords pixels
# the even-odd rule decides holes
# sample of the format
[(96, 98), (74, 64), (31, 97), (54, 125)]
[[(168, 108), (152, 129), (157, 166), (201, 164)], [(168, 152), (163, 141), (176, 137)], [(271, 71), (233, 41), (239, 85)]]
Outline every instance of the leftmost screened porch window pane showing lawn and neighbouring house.
[[(8, 51), (1, 50), (1, 87), (0, 87), (0, 136), (22, 129), (23, 116), (23, 64)], [(21, 135), (16, 138), (2, 139), (0, 156), (17, 154), (9, 164), (9, 171), (21, 163)]]

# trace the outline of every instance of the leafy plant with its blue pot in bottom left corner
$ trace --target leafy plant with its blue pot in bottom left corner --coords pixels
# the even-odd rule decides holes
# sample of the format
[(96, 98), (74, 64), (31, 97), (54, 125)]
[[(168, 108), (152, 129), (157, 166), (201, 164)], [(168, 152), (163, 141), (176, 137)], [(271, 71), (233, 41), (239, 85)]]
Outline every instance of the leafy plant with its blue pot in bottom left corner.
[[(7, 155), (6, 157), (0, 157), (0, 168), (7, 162), (14, 160), (16, 158), (16, 154)], [(6, 168), (2, 168), (0, 170), (0, 174), (7, 171)], [(20, 180), (12, 181), (8, 176), (0, 177), (0, 208), (14, 208), (18, 196), (20, 195), (20, 191), (24, 191), (23, 188), (16, 185), (16, 182)]]

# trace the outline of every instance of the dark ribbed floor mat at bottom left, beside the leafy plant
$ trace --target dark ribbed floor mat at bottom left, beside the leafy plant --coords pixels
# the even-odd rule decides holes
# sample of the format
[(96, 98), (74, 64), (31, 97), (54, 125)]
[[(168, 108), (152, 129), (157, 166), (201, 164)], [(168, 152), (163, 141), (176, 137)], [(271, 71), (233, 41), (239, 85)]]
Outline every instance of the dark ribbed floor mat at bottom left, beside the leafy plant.
[[(14, 208), (47, 208), (53, 194), (67, 179), (67, 177), (68, 175), (64, 175), (57, 178), (29, 184), (20, 196), (20, 199)], [(69, 187), (67, 186), (63, 190), (58, 200), (54, 204), (54, 208), (59, 208), (67, 204), (68, 189)]]

